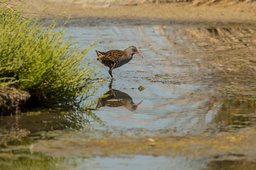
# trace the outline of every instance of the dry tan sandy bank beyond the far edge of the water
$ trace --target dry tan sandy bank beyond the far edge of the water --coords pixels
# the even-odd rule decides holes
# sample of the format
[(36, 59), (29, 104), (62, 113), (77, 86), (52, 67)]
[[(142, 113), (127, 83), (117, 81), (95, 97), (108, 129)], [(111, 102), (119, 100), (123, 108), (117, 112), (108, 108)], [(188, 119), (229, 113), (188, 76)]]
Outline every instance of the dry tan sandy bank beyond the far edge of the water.
[(24, 0), (24, 11), (72, 17), (118, 18), (122, 20), (168, 20), (173, 24), (256, 24), (256, 2), (195, 6), (191, 3), (109, 6), (83, 1)]

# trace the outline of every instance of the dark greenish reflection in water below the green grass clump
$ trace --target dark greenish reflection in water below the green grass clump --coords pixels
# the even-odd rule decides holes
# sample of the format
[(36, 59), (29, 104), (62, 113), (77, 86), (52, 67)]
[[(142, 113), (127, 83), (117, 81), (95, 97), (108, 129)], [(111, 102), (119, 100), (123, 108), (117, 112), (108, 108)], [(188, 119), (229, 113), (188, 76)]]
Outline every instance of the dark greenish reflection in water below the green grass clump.
[(104, 125), (92, 111), (35, 111), (1, 121), (4, 121), (0, 127), (2, 148), (28, 145), (37, 139), (53, 139), (57, 135), (54, 131), (77, 131), (94, 122)]

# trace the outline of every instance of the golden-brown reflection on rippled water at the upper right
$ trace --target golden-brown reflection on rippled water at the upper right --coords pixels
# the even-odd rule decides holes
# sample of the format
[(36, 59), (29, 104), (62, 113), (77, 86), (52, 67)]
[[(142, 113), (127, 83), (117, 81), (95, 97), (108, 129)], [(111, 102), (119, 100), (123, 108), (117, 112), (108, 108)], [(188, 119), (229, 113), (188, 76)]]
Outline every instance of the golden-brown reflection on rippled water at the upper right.
[(256, 94), (254, 27), (185, 27), (177, 32), (186, 36), (188, 43), (184, 45), (192, 44), (203, 53), (202, 76), (211, 74), (211, 78), (200, 81), (225, 95)]

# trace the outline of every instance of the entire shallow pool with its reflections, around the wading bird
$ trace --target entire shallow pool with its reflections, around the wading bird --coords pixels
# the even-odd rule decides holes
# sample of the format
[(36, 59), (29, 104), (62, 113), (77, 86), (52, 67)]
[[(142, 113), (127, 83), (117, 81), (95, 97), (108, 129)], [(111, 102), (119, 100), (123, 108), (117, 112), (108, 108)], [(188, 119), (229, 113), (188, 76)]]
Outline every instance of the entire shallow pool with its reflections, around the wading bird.
[[(256, 152), (246, 152), (253, 144), (245, 140), (253, 143), (256, 139), (255, 28), (106, 22), (68, 25), (67, 31), (76, 33), (74, 40), (80, 38), (84, 48), (95, 39), (95, 50), (103, 52), (134, 45), (144, 59), (134, 55), (131, 62), (113, 70), (115, 80), (104, 83), (95, 96), (108, 94), (95, 105), (97, 111), (36, 111), (1, 118), (0, 164), (4, 169), (256, 167)], [(90, 50), (84, 60), (95, 57)], [(102, 69), (107, 79), (108, 68)], [(158, 139), (162, 136), (163, 141)], [(164, 136), (172, 136), (177, 146), (157, 150), (161, 145), (157, 139), (164, 143)], [(223, 143), (200, 143), (221, 141), (222, 136)], [(225, 136), (230, 142), (241, 138), (243, 142), (236, 143), (241, 145), (239, 150), (228, 148)], [(102, 145), (92, 144), (95, 149), (90, 151), (86, 146), (95, 138)], [(105, 138), (113, 138), (111, 142), (124, 138), (124, 143), (147, 139), (155, 150), (129, 152), (132, 148), (122, 143), (116, 144), (122, 150), (115, 150)], [(209, 147), (209, 152), (201, 145)]]

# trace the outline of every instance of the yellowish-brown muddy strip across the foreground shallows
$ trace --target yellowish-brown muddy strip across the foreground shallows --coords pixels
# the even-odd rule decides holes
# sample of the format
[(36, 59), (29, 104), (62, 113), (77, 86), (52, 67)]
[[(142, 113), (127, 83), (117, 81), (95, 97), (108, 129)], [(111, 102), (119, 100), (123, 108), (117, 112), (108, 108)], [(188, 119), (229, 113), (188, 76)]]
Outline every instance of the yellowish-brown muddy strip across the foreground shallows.
[[(93, 132), (93, 131), (92, 131)], [(104, 134), (104, 132), (103, 132)], [(46, 135), (51, 135), (46, 134)], [(77, 136), (77, 138), (76, 138)], [(44, 152), (46, 155), (58, 157), (67, 155), (179, 155), (188, 159), (204, 157), (211, 160), (255, 160), (255, 129), (241, 129), (237, 132), (220, 132), (218, 134), (154, 134), (153, 136), (122, 135), (104, 138), (86, 138), (86, 134), (77, 133), (76, 136), (64, 134), (58, 136), (61, 140), (50, 139), (38, 141), (30, 148), (32, 152)], [(84, 136), (80, 139), (79, 136)], [(69, 138), (69, 139), (68, 139)], [(77, 147), (79, 145), (79, 147)], [(243, 145), (243, 147), (241, 147)], [(42, 147), (44, 146), (44, 147)], [(1, 155), (0, 155), (1, 156)]]

